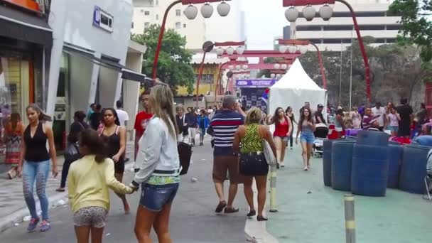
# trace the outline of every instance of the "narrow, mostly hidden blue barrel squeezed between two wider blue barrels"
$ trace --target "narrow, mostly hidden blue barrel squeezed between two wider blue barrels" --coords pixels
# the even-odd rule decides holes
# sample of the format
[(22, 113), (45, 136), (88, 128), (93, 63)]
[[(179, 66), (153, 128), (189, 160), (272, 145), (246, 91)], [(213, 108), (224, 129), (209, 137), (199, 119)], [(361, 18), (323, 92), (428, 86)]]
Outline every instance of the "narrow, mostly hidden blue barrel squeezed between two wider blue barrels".
[(389, 143), (389, 178), (387, 188), (399, 187), (399, 168), (401, 166), (404, 147), (398, 143)]

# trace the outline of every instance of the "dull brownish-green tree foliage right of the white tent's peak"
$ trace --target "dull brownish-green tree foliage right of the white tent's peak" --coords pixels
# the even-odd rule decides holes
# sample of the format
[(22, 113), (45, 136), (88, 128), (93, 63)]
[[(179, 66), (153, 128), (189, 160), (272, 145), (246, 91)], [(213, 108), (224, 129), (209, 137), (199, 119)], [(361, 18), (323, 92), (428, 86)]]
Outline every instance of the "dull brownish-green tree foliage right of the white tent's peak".
[[(365, 38), (364, 41), (365, 44), (371, 43), (369, 38)], [(372, 102), (398, 103), (401, 97), (410, 100), (414, 97), (423, 97), (423, 93), (416, 94), (415, 88), (431, 77), (432, 70), (422, 65), (419, 48), (412, 45), (394, 44), (377, 47), (366, 45), (365, 48), (371, 72)], [(340, 52), (325, 51), (322, 53), (329, 102), (339, 104), (340, 95), (340, 105), (343, 107), (349, 106), (350, 99), (350, 53), (351, 48), (342, 51), (342, 59)], [(301, 56), (300, 60), (308, 75), (322, 86), (316, 53), (306, 53)], [(352, 105), (358, 106), (362, 103), (367, 103), (365, 65), (359, 45), (354, 41), (352, 45)]]

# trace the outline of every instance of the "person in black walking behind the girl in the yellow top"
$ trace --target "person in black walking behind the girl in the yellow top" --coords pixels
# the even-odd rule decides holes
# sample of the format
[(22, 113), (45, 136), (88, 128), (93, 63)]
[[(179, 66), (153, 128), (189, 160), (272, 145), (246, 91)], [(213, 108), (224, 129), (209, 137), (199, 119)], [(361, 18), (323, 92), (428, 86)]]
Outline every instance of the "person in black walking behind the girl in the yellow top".
[(60, 180), (60, 188), (56, 191), (64, 192), (66, 186), (66, 179), (68, 178), (70, 164), (81, 157), (78, 149), (77, 141), (80, 137), (81, 131), (89, 128), (89, 125), (85, 123), (85, 114), (82, 111), (75, 112), (73, 116), (74, 121), (70, 124), (69, 135), (68, 135), (68, 147), (65, 151), (65, 162), (62, 168), (62, 178)]

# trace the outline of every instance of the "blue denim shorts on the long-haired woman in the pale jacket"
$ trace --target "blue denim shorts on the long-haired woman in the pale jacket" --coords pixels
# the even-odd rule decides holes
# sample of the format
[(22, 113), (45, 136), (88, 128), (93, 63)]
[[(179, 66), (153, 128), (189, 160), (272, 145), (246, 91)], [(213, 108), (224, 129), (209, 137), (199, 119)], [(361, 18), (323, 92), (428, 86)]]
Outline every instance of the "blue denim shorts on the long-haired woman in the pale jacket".
[(160, 212), (162, 207), (173, 202), (177, 194), (178, 183), (151, 185), (142, 183), (139, 204), (152, 212)]

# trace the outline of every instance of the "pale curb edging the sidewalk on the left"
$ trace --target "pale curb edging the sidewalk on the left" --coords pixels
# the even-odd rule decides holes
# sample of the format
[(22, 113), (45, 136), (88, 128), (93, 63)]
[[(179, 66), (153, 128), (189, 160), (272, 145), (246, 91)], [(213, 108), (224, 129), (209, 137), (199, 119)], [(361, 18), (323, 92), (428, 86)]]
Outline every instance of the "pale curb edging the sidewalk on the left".
[[(134, 161), (130, 161), (128, 163), (126, 163), (126, 166), (124, 168), (124, 171), (129, 171), (131, 168), (134, 167)], [(24, 200), (24, 198), (23, 198)], [(65, 200), (65, 205), (68, 205), (68, 191), (65, 191), (63, 193), (57, 193), (51, 197), (48, 197), (48, 202), (50, 204), (50, 209), (53, 209), (55, 207), (58, 207), (59, 205), (57, 205), (57, 203), (55, 203), (58, 200)], [(36, 210), (41, 210), (41, 205), (38, 203), (39, 199), (38, 197), (35, 198), (35, 202), (36, 202)], [(53, 206), (54, 205), (54, 206)], [(27, 215), (29, 215), (28, 213), (28, 209), (27, 206), (24, 205), (24, 207), (22, 207), (19, 210), (16, 210), (15, 212), (12, 212), (9, 215), (6, 215), (4, 217), (0, 218), (0, 233), (4, 232), (6, 229), (9, 229), (11, 227), (15, 227), (16, 223), (21, 223), (23, 222), (23, 217), (26, 217)]]

